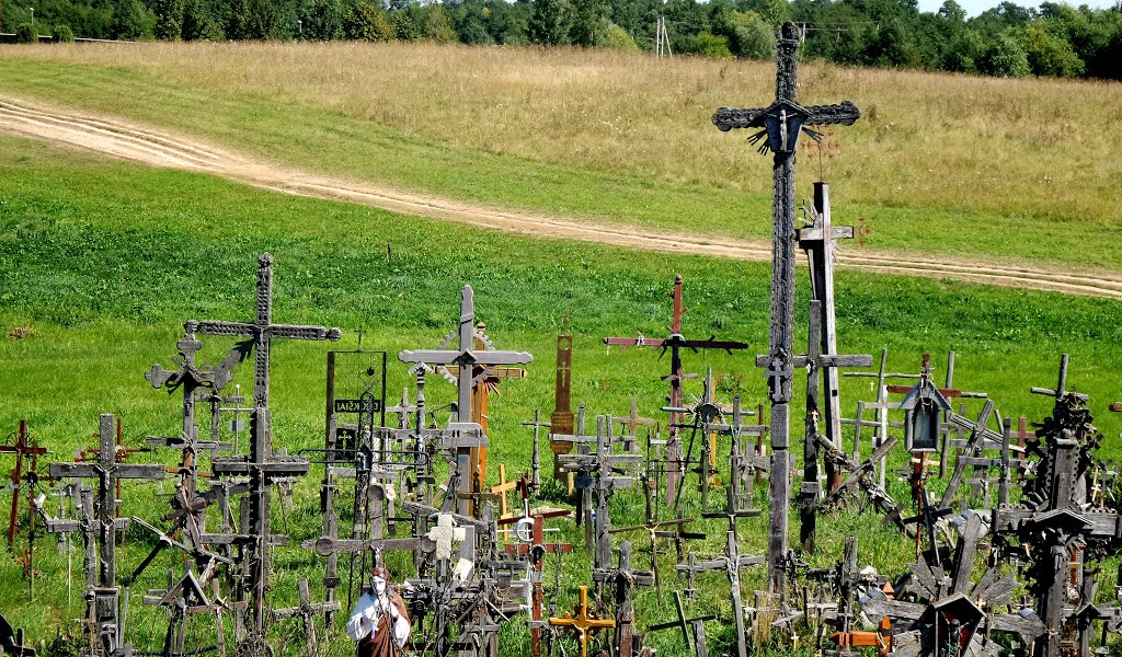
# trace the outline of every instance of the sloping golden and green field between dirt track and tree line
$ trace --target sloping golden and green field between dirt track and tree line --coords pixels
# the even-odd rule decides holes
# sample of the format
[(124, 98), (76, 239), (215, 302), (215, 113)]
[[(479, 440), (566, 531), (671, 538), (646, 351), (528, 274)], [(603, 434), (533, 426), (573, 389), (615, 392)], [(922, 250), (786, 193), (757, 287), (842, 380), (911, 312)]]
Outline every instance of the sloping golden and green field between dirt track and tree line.
[[(408, 62), (408, 65), (402, 65)], [(766, 239), (770, 158), (709, 123), (773, 66), (386, 44), (8, 47), (0, 94), (183, 131), (310, 170), (578, 220)], [(1118, 83), (801, 67), (854, 100), (827, 160), (873, 250), (1119, 270)], [(205, 111), (199, 111), (205, 108)], [(802, 158), (804, 165), (811, 163)], [(817, 177), (800, 174), (801, 194)], [(512, 185), (511, 181), (518, 181)]]

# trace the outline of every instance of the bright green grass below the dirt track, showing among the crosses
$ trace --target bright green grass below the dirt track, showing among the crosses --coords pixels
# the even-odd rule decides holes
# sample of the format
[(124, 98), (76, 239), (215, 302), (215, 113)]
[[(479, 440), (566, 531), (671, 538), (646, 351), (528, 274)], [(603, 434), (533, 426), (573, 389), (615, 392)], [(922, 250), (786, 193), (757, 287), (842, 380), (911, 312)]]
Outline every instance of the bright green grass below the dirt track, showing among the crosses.
[[(392, 262), (386, 243), (393, 244)], [(177, 399), (153, 390), (142, 374), (155, 362), (171, 364), (184, 320), (251, 316), (257, 256), (265, 250), (276, 262), (275, 321), (340, 326), (348, 334), (339, 348), (356, 345), (353, 328), (359, 326), (368, 331), (368, 349), (396, 354), (433, 346), (452, 328), (459, 289), (470, 283), (479, 316), (496, 344), (530, 351), (536, 359), (530, 378), (504, 383), (502, 397), (491, 401), (491, 462), (506, 462), (512, 475), (528, 468), (530, 433), (521, 422), (535, 408), (544, 414), (552, 408), (553, 346), (562, 313), (571, 314), (577, 335), (574, 401), (587, 404), (592, 415), (624, 415), (631, 397), (637, 396), (641, 413), (663, 417), (657, 411), (664, 395), (659, 376), (665, 373), (666, 360), (640, 349), (606, 351), (600, 337), (664, 332), (665, 292), (675, 272), (686, 279), (688, 335), (744, 340), (755, 351), (766, 345), (766, 263), (511, 237), (0, 138), (0, 271), (6, 272), (0, 287), (0, 387), (7, 391), (0, 404), (2, 431), (28, 419), (57, 460), (68, 460), (75, 447), (91, 442), (99, 413), (121, 415), (131, 444), (177, 431)], [(808, 285), (804, 278), (799, 283), (802, 326)], [(1005, 416), (1043, 417), (1048, 400), (1029, 395), (1028, 387), (1052, 385), (1063, 352), (1072, 354), (1070, 383), (1092, 395), (1096, 411), (1122, 399), (1122, 305), (1115, 302), (848, 272), (839, 274), (837, 290), (845, 352), (876, 354), (888, 346), (890, 369), (914, 371), (925, 351), (936, 354), (940, 364), (948, 349), (957, 350), (956, 385), (988, 391)], [(30, 326), (35, 333), (8, 336), (16, 326)], [(212, 359), (229, 345), (218, 339), (204, 343), (204, 355)], [(293, 342), (273, 350), (278, 446), (295, 451), (322, 444), (325, 349)], [(396, 363), (393, 355), (390, 362)], [(720, 394), (725, 401), (734, 391), (744, 396), (745, 406), (763, 401), (763, 378), (745, 354), (705, 354), (706, 364), (727, 376)], [(688, 357), (689, 370), (700, 372), (702, 367), (702, 355)], [(389, 373), (389, 395), (395, 397), (411, 378), (401, 364), (393, 364)], [(237, 379), (243, 389), (248, 376), (243, 367)], [(688, 389), (699, 391), (696, 385)], [(452, 395), (451, 386), (433, 378), (430, 405), (450, 401)], [(858, 398), (874, 396), (867, 380), (854, 379), (845, 379), (843, 395), (847, 415)], [(793, 409), (795, 418), (800, 406)], [(1120, 419), (1101, 414), (1101, 427), (1110, 436), (1105, 456), (1122, 456), (1115, 438), (1122, 431)], [(793, 425), (798, 436), (801, 420)], [(140, 456), (165, 463), (174, 457)], [(546, 462), (543, 470), (549, 468)], [(296, 488), (295, 506), (276, 510), (275, 522), (295, 539), (319, 534), (318, 478), (313, 469), (313, 476)], [(892, 482), (898, 499), (904, 490), (904, 484)], [(128, 484), (125, 512), (157, 517), (166, 503), (158, 492), (158, 487)], [(162, 492), (172, 492), (171, 485)], [(613, 522), (640, 521), (640, 500), (631, 492), (616, 496)], [(760, 498), (757, 506), (766, 508), (766, 501)], [(686, 500), (686, 509), (688, 515), (699, 510), (695, 496)], [(725, 524), (698, 525), (710, 539), (691, 549), (702, 557), (718, 554)], [(741, 529), (742, 549), (762, 553), (765, 520), (745, 521)], [(850, 533), (867, 548), (862, 561), (882, 572), (899, 573), (909, 559), (911, 547), (895, 530), (844, 513), (820, 522), (821, 547), (812, 562), (833, 563)], [(576, 602), (577, 585), (588, 583), (589, 567), (577, 531), (570, 528), (563, 536), (577, 550), (565, 562), (562, 610)], [(119, 572), (135, 567), (149, 543), (139, 531), (130, 533)], [(636, 536), (633, 543), (644, 547), (645, 538)], [(74, 610), (66, 610), (66, 559), (52, 544), (42, 539), (36, 552), (43, 576), (35, 604), (26, 603), (26, 580), (18, 566), (0, 558), (0, 611), (26, 627), (33, 640), (49, 638), (81, 607), (75, 590)], [(315, 596), (322, 595), (322, 561), (294, 548), (278, 549), (277, 559), (278, 607), (294, 599), (295, 581), (302, 576), (313, 581)], [(641, 553), (635, 561), (645, 564)], [(79, 563), (75, 556), (76, 568)], [(552, 585), (550, 563), (546, 582)], [(661, 563), (672, 589), (673, 556)], [(162, 586), (164, 571), (174, 564), (171, 555), (162, 556), (131, 591), (134, 640), (142, 647), (159, 644), (162, 612), (144, 609), (139, 596)], [(404, 570), (399, 561), (392, 566)], [(761, 568), (746, 574), (746, 599), (762, 580)], [(701, 583), (702, 594), (690, 611), (729, 618), (724, 576), (711, 574)], [(660, 605), (651, 592), (638, 594), (636, 609), (641, 629), (670, 616), (665, 600)], [(193, 638), (205, 637), (205, 620), (195, 621)], [(504, 630), (504, 654), (526, 653), (528, 635), (519, 626), (515, 621)], [(285, 654), (298, 653), (303, 644), (294, 623), (280, 623), (274, 632)], [(724, 654), (732, 640), (729, 626), (714, 624), (710, 632), (712, 654)], [(334, 637), (332, 654), (348, 654), (338, 629)], [(651, 640), (660, 654), (683, 654), (674, 632)]]

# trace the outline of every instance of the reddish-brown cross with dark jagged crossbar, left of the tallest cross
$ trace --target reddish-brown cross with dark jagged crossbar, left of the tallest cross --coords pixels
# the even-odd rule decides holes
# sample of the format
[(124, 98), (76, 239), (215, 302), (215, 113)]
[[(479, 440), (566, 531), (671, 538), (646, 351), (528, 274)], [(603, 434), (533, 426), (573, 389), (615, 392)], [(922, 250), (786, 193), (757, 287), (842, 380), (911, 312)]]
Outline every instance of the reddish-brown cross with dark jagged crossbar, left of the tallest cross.
[[(714, 340), (712, 337), (709, 340), (687, 340), (682, 336), (682, 315), (686, 314), (686, 308), (682, 306), (682, 276), (680, 274), (674, 277), (674, 289), (670, 293), (670, 297), (673, 299), (670, 335), (664, 339), (650, 339), (644, 337), (642, 334), (636, 337), (605, 337), (604, 343), (615, 344), (624, 349), (628, 346), (661, 349), (662, 353), (665, 353), (669, 349), (670, 374), (663, 377), (662, 380), (670, 381), (669, 407), (679, 409), (682, 408), (684, 404), (682, 381), (686, 379), (697, 378), (697, 374), (687, 374), (682, 369), (682, 349), (690, 349), (693, 351), (699, 349), (720, 349), (732, 353), (733, 350), (747, 349), (748, 345), (744, 342), (719, 341)], [(666, 442), (666, 462), (670, 466), (666, 475), (668, 502), (673, 502), (678, 498), (678, 483), (682, 478), (681, 438), (679, 436), (681, 422), (681, 411), (671, 410), (670, 422), (668, 425), (670, 428), (670, 437)]]

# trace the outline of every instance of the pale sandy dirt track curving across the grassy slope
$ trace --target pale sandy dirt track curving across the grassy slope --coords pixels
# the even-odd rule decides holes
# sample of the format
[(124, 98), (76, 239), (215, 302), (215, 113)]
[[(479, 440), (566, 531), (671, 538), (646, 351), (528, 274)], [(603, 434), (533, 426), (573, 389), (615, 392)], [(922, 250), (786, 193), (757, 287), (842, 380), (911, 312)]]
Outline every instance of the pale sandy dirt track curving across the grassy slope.
[[(590, 223), (558, 216), (506, 211), (471, 203), (401, 192), (369, 183), (353, 183), (292, 170), (204, 145), (185, 137), (118, 119), (95, 118), (33, 105), (0, 95), (0, 131), (45, 139), (139, 161), (213, 174), (285, 194), (346, 201), (392, 212), (456, 221), (534, 237), (583, 240), (677, 253), (770, 260), (771, 246), (727, 238), (683, 238), (624, 225)], [(1055, 271), (1008, 263), (956, 263), (917, 260), (892, 253), (846, 250), (838, 255), (845, 269), (949, 278), (1027, 289), (1122, 299), (1122, 274)]]

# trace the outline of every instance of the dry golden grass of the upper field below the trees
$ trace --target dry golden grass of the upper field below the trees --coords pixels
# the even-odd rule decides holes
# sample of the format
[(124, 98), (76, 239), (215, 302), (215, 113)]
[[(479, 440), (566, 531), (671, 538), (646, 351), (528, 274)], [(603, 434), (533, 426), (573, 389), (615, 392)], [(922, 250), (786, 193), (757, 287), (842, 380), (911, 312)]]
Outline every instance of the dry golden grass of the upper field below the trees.
[[(2, 55), (328, 109), (532, 160), (732, 189), (771, 185), (770, 160), (709, 122), (719, 105), (769, 102), (769, 62), (404, 43), (74, 45)], [(1122, 84), (816, 63), (800, 76), (801, 101), (853, 99), (864, 114), (837, 130), (843, 157), (828, 163), (840, 203), (1119, 225)], [(129, 99), (112, 102), (125, 110)]]

